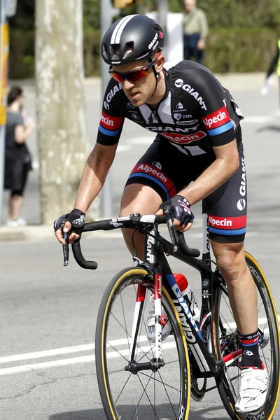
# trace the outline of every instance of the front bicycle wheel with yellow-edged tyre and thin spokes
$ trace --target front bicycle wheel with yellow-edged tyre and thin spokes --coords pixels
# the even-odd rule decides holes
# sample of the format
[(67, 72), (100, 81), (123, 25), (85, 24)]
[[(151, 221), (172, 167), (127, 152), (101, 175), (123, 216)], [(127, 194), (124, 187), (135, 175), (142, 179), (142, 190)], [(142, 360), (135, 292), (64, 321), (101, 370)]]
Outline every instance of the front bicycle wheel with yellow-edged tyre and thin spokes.
[[(148, 309), (150, 304), (148, 295), (153, 292), (153, 284), (148, 281), (147, 275), (148, 272), (142, 268), (123, 269), (113, 277), (102, 297), (95, 335), (99, 393), (108, 420), (163, 418), (187, 420), (190, 408), (188, 349), (179, 315), (164, 286), (162, 286), (162, 306), (165, 308), (173, 331), (162, 342), (162, 358), (165, 360), (165, 366), (160, 367), (158, 372), (145, 370), (137, 374), (124, 369), (130, 355), (129, 337), (132, 332), (136, 286), (141, 284), (146, 287), (145, 309)], [(120, 308), (116, 307), (118, 301)], [(127, 318), (125, 318), (126, 314)], [(144, 314), (146, 314), (145, 311)], [(146, 322), (144, 314), (141, 316), (143, 325)], [(121, 334), (117, 327), (120, 327)], [(125, 332), (125, 339), (122, 340), (123, 332)], [(146, 361), (146, 358), (149, 360), (150, 352), (153, 356), (153, 346), (155, 346), (148, 341), (146, 330), (144, 330), (144, 335), (141, 335), (142, 332), (143, 329), (139, 329), (137, 336), (139, 340), (137, 356), (141, 362)], [(174, 347), (178, 359), (174, 357)], [(179, 372), (179, 378), (174, 377), (175, 372)], [(155, 395), (148, 395), (151, 391)], [(121, 395), (123, 392), (125, 395)], [(176, 404), (172, 405), (174, 396)], [(132, 400), (131, 404), (130, 400)]]

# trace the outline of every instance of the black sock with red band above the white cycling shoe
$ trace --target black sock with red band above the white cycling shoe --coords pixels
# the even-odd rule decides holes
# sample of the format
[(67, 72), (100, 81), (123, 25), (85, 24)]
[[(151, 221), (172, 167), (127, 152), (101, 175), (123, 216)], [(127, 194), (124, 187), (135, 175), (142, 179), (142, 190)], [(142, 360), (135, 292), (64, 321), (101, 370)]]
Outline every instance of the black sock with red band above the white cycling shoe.
[(242, 349), (241, 369), (245, 367), (262, 369), (262, 360), (258, 353), (258, 331), (248, 335), (239, 333), (239, 336)]

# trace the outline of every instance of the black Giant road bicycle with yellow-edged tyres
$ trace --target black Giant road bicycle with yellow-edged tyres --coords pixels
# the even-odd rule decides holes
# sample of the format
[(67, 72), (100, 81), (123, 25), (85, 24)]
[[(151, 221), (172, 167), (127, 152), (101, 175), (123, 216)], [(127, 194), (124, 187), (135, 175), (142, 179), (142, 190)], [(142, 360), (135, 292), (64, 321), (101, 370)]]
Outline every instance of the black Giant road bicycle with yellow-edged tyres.
[[(239, 395), (241, 349), (237, 326), (228, 302), (223, 276), (211, 260), (207, 215), (203, 215), (202, 259), (198, 249), (188, 248), (177, 232), (172, 215), (131, 215), (85, 223), (84, 232), (130, 228), (146, 235), (145, 259), (133, 255), (137, 265), (118, 272), (106, 288), (97, 317), (95, 358), (97, 381), (109, 420), (186, 420), (190, 397), (200, 401), (218, 388), (231, 419), (269, 420), (279, 397), (279, 323), (265, 275), (252, 255), (246, 262), (258, 291), (259, 350), (269, 373), (265, 405), (258, 411), (235, 411)], [(160, 235), (167, 223), (170, 239)], [(78, 264), (86, 261), (80, 241), (72, 245)], [(172, 274), (167, 257), (172, 255), (200, 272), (202, 295), (200, 320), (195, 321), (190, 302)], [(69, 248), (64, 246), (64, 265)], [(113, 262), (111, 262), (113, 263)], [(148, 339), (147, 319), (155, 297), (154, 339)], [(171, 333), (163, 339), (166, 323)]]

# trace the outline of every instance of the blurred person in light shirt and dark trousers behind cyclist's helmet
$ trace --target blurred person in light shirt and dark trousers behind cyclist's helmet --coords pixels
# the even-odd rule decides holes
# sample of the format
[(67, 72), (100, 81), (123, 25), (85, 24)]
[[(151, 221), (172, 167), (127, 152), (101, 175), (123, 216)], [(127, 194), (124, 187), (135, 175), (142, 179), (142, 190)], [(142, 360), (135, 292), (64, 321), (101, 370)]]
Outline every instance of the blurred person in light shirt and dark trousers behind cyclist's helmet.
[(197, 8), (196, 0), (185, 0), (186, 13), (183, 16), (183, 55), (184, 59), (195, 59), (201, 63), (204, 58), (208, 34), (207, 17)]

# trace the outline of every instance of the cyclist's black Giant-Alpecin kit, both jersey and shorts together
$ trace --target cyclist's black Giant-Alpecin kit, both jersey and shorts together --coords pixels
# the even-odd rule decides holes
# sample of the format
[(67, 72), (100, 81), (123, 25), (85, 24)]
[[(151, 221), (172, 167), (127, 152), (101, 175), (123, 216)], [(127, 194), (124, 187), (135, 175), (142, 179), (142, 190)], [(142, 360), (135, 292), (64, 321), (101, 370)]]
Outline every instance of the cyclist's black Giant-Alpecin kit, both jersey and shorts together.
[(210, 239), (244, 241), (247, 195), (241, 111), (230, 92), (201, 64), (165, 63), (163, 72), (166, 92), (156, 107), (133, 106), (121, 85), (113, 79), (109, 82), (97, 141), (117, 144), (125, 118), (155, 132), (155, 141), (132, 169), (126, 186), (144, 184), (165, 201), (179, 194), (214, 162), (215, 146), (236, 139), (239, 168), (204, 203)]

